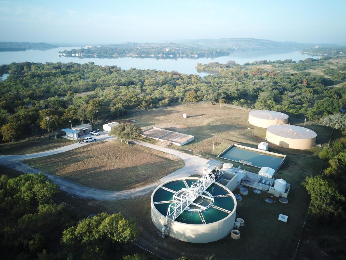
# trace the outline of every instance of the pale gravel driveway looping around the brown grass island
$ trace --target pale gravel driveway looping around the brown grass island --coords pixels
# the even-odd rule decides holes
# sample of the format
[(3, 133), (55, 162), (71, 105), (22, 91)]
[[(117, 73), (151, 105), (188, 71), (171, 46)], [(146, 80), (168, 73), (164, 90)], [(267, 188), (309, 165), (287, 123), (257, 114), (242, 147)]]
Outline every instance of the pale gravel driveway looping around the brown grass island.
[[(97, 140), (106, 140), (109, 138), (108, 135), (102, 135), (97, 137)], [(203, 172), (203, 165), (206, 164), (208, 160), (194, 156), (194, 155), (189, 155), (182, 153), (180, 151), (176, 151), (173, 149), (157, 146), (157, 145), (152, 145), (148, 144), (146, 142), (140, 142), (136, 141), (135, 142), (137, 145), (142, 145), (146, 146), (152, 149), (164, 151), (165, 153), (173, 154), (176, 156), (179, 156), (181, 159), (183, 159), (185, 166), (180, 168), (179, 170), (176, 170), (175, 172), (161, 178), (157, 182), (148, 184), (143, 187), (138, 187), (135, 189), (130, 189), (130, 190), (123, 190), (123, 191), (106, 191), (106, 190), (98, 190), (90, 187), (86, 187), (83, 185), (80, 185), (78, 183), (69, 181), (67, 179), (64, 179), (62, 177), (45, 173), (45, 175), (48, 176), (49, 179), (52, 180), (53, 183), (58, 184), (60, 186), (60, 189), (72, 194), (75, 192), (76, 196), (85, 198), (85, 199), (95, 199), (95, 200), (118, 200), (118, 199), (129, 199), (129, 198), (134, 198), (136, 196), (144, 196), (154, 190), (159, 184), (173, 180), (176, 178), (181, 178), (181, 177), (187, 177), (193, 174), (201, 174)], [(43, 157), (43, 156), (48, 156), (48, 155), (54, 155), (58, 153), (62, 153), (65, 151), (69, 151), (84, 145), (91, 145), (92, 143), (88, 144), (72, 144), (72, 145), (67, 145), (64, 147), (60, 147), (54, 150), (50, 151), (44, 151), (36, 154), (26, 154), (26, 155), (7, 155), (7, 156), (0, 156), (0, 164), (7, 166), (7, 167), (13, 167), (13, 169), (20, 171), (22, 173), (35, 173), (37, 174), (38, 172), (42, 172), (40, 170), (37, 170), (33, 167), (30, 167), (21, 160), (25, 159), (31, 159), (31, 158), (37, 158), (37, 157)], [(154, 165), (153, 165), (154, 166)]]

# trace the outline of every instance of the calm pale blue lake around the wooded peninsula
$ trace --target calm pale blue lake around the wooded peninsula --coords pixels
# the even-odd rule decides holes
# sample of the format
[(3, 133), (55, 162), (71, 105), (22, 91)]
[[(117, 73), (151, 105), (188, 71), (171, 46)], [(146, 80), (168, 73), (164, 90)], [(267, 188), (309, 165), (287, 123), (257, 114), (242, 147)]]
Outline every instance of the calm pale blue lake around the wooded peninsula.
[(292, 59), (295, 61), (304, 60), (306, 58), (320, 58), (320, 56), (311, 56), (300, 52), (261, 52), (261, 51), (247, 51), (235, 52), (228, 56), (217, 58), (199, 58), (199, 59), (154, 59), (154, 58), (73, 58), (57, 55), (58, 51), (80, 49), (80, 47), (58, 47), (55, 49), (40, 51), (40, 50), (26, 50), (18, 52), (0, 52), (0, 64), (9, 64), (12, 62), (77, 62), (86, 63), (89, 61), (97, 65), (116, 65), (122, 69), (136, 68), (136, 69), (156, 69), (166, 71), (179, 71), (186, 74), (198, 74), (200, 76), (208, 75), (207, 73), (198, 73), (195, 69), (197, 63), (219, 62), (226, 63), (229, 60), (234, 60), (239, 64), (245, 62), (253, 62), (255, 60), (285, 60)]

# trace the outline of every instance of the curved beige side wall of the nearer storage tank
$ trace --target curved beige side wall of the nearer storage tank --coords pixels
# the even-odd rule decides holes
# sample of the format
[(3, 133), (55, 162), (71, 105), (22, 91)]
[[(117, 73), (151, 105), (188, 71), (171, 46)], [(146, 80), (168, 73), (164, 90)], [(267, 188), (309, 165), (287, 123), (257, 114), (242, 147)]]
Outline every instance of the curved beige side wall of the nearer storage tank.
[(266, 137), (268, 142), (284, 148), (306, 150), (315, 146), (316, 137), (310, 139), (292, 139), (274, 135), (267, 130)]

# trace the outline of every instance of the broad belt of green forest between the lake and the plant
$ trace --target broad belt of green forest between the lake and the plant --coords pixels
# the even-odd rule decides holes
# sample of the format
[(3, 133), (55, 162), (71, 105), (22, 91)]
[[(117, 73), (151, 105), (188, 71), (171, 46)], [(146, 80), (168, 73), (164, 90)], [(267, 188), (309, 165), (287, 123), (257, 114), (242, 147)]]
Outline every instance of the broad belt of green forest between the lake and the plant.
[[(297, 64), (297, 63), (296, 63)], [(307, 115), (310, 121), (340, 112), (346, 105), (346, 87), (329, 88), (333, 80), (307, 71), (289, 73), (261, 67), (234, 66), (215, 75), (199, 77), (176, 71), (121, 70), (93, 62), (11, 63), (0, 67), (0, 125), (2, 138), (10, 141), (28, 129), (54, 131), (73, 124), (126, 115), (176, 102), (230, 103), (276, 110), (290, 116)], [(106, 90), (106, 91), (102, 91)], [(74, 96), (74, 93), (93, 91)]]

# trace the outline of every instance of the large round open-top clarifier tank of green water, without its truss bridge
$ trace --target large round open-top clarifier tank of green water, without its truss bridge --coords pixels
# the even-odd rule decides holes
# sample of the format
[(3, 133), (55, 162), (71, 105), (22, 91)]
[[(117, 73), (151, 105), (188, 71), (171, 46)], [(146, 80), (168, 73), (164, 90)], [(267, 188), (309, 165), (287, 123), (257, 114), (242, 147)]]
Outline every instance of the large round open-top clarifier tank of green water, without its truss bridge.
[(186, 242), (207, 243), (222, 239), (233, 229), (237, 202), (234, 194), (217, 182), (213, 182), (174, 220), (166, 217), (174, 203), (173, 196), (184, 194), (198, 180), (188, 177), (158, 186), (151, 197), (153, 223), (159, 230), (166, 224), (166, 235)]

